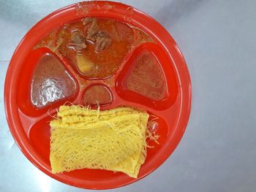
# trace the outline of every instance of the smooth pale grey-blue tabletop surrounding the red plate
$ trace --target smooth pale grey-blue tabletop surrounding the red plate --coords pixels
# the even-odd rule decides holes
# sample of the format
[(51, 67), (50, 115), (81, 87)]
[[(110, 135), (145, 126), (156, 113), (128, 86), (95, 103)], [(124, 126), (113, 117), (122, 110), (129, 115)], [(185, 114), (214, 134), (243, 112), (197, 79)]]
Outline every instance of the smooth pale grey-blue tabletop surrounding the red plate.
[[(4, 78), (37, 21), (75, 1), (0, 0), (0, 191), (86, 191), (53, 180), (20, 152), (4, 115)], [(256, 191), (256, 1), (129, 0), (176, 39), (192, 79), (187, 131), (165, 164), (113, 191)]]

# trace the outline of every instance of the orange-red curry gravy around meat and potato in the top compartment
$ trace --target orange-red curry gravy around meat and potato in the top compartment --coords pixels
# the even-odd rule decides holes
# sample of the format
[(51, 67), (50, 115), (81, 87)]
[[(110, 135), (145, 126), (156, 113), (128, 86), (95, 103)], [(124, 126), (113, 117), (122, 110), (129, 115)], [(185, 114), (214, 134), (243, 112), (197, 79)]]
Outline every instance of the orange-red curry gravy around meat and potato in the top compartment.
[(80, 74), (87, 78), (110, 77), (122, 64), (133, 42), (132, 28), (125, 23), (116, 20), (97, 19), (97, 26), (99, 31), (105, 31), (109, 35), (111, 43), (105, 50), (97, 52), (95, 51), (96, 43), (86, 38), (86, 48), (80, 50), (79, 53), (86, 55), (86, 58), (94, 64), (94, 67), (88, 72), (80, 72), (76, 58), (77, 52), (68, 46), (71, 32), (80, 31), (86, 37), (86, 27), (79, 21), (70, 23), (69, 26), (65, 26), (59, 31), (59, 38), (64, 39), (59, 51), (73, 66), (76, 66)]

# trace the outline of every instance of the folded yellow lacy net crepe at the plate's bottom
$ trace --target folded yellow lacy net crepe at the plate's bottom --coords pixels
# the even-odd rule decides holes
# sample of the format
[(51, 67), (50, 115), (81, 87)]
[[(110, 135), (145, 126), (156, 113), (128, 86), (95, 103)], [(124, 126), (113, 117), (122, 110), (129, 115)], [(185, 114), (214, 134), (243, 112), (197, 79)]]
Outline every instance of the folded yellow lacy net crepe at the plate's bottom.
[(50, 122), (52, 172), (106, 169), (136, 178), (146, 158), (148, 116), (130, 107), (61, 106)]

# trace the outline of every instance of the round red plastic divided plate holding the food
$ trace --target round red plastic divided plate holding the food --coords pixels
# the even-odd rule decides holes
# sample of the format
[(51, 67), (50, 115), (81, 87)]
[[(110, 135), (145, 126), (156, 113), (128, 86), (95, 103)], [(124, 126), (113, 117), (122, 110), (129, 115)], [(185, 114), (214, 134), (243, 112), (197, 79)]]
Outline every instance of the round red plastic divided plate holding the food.
[[(85, 7), (86, 9), (83, 9)], [(61, 99), (49, 107), (38, 109), (31, 106), (28, 96), (29, 80), (38, 56), (49, 51), (46, 48), (34, 51), (33, 47), (54, 28), (86, 16), (120, 20), (145, 31), (156, 42), (156, 44), (141, 45), (133, 53), (127, 55), (124, 67), (118, 69), (116, 74), (108, 80), (91, 80), (89, 83), (89, 85), (102, 84), (110, 88), (113, 101), (102, 106), (102, 110), (127, 105), (140, 107), (158, 117), (159, 145), (152, 144), (154, 148), (148, 149), (146, 162), (141, 166), (137, 179), (123, 173), (94, 169), (80, 169), (62, 174), (50, 172), (50, 126), (48, 122), (51, 118), (48, 112), (56, 112), (56, 109), (66, 101), (82, 104), (85, 88), (78, 86), (78, 91), (74, 96)], [(153, 101), (124, 88), (132, 61), (144, 50), (157, 58), (165, 74), (167, 96), (161, 101)], [(61, 61), (75, 79), (79, 78), (67, 61), (64, 59)], [(78, 80), (75, 81), (78, 83)], [(156, 20), (125, 4), (111, 1), (88, 1), (59, 9), (40, 20), (29, 30), (12, 55), (5, 80), (4, 104), (12, 136), (29, 161), (42, 172), (63, 183), (80, 188), (117, 188), (145, 177), (173, 153), (184, 134), (189, 119), (191, 82), (187, 65), (176, 42)]]

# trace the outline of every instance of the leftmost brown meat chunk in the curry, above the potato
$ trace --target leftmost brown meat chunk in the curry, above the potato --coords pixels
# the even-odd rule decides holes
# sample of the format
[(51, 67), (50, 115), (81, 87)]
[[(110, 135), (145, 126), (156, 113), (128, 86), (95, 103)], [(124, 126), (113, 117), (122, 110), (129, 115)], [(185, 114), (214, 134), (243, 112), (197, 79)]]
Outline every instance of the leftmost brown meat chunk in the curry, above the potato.
[(73, 31), (70, 40), (69, 46), (74, 47), (75, 50), (83, 50), (86, 48), (86, 38), (80, 31)]

